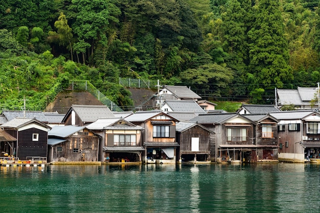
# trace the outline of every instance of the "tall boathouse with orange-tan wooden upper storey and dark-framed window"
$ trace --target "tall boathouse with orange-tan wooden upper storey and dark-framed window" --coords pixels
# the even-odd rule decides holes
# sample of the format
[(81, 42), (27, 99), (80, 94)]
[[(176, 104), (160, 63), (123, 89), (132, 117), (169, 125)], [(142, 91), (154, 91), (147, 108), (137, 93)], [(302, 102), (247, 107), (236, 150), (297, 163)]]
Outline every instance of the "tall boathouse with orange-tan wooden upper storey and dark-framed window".
[(146, 163), (176, 163), (176, 122), (174, 117), (161, 111), (140, 111), (125, 117), (126, 121), (141, 126), (145, 148), (142, 160)]

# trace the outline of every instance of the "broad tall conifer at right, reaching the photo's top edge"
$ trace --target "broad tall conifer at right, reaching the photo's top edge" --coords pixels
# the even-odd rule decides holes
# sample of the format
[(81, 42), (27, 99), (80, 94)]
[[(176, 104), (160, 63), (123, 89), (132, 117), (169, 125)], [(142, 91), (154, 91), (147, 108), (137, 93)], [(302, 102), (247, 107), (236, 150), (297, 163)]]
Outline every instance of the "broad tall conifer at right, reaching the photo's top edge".
[(289, 52), (279, 1), (261, 0), (258, 7), (256, 21), (248, 32), (249, 72), (260, 87), (283, 88), (292, 79), (292, 69), (287, 63)]

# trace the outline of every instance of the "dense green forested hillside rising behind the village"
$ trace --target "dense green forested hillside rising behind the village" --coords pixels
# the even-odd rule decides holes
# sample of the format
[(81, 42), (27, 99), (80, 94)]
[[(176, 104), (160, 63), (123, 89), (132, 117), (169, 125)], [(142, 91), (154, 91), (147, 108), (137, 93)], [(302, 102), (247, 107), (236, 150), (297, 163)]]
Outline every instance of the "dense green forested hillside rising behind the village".
[[(88, 80), (125, 110), (119, 77), (187, 85), (204, 99), (273, 104), (320, 81), (315, 0), (7, 0), (0, 108), (43, 110)], [(205, 94), (205, 95), (203, 95)], [(0, 109), (0, 110), (1, 110)]]

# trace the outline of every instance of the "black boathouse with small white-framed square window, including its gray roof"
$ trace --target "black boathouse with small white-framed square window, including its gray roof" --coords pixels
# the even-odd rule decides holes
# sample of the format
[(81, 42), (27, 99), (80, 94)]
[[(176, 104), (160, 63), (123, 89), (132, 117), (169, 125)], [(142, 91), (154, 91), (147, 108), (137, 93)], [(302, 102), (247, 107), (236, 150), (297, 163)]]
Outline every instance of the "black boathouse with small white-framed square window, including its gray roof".
[(35, 119), (16, 118), (0, 126), (5, 132), (17, 138), (11, 153), (20, 160), (27, 157), (47, 157), (48, 131), (46, 124)]

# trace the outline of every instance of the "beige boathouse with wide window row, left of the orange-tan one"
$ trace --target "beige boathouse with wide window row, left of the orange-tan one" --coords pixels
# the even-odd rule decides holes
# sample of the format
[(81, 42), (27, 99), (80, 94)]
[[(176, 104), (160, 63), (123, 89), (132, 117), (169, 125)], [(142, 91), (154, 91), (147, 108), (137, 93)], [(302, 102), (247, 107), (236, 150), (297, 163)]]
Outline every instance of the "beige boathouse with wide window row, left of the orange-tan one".
[[(86, 126), (101, 135), (100, 158), (107, 162), (141, 162), (141, 132), (136, 126), (121, 117), (105, 117)], [(102, 155), (102, 156), (101, 156)]]

